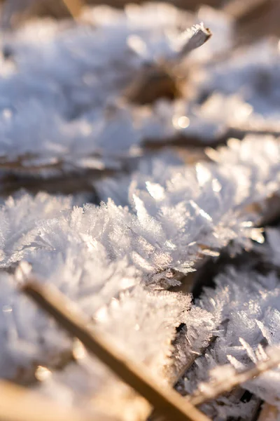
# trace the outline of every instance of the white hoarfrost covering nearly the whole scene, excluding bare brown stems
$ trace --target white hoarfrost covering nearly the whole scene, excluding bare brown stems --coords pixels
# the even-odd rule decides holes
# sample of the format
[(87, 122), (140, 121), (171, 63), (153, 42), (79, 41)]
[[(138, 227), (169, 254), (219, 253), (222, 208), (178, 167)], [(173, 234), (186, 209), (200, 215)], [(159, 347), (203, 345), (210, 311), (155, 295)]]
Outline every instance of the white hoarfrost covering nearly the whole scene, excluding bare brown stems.
[[(79, 22), (34, 20), (2, 35), (0, 191), (13, 194), (0, 207), (0, 377), (139, 420), (137, 394), (20, 291), (29, 276), (59, 288), (160, 384), (183, 365), (183, 394), (279, 352), (280, 229), (262, 228), (279, 209), (279, 47), (232, 50), (235, 25), (208, 7), (96, 6)], [(130, 100), (151, 69), (181, 81), (181, 98)], [(96, 203), (83, 189), (10, 187), (27, 175), (62, 185), (69, 173), (87, 178)], [(212, 261), (218, 274), (197, 294)], [(279, 408), (279, 381), (276, 367), (202, 410), (251, 420), (261, 400)]]

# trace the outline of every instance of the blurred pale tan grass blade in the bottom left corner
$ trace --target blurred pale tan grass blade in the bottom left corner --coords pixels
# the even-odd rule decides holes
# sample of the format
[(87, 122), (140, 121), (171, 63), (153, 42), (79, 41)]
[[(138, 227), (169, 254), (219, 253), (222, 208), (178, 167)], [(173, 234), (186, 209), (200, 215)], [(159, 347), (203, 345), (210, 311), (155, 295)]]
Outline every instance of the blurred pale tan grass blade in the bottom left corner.
[[(0, 381), (0, 421), (53, 421), (54, 416), (55, 421), (92, 421), (92, 414), (60, 406), (29, 389)], [(98, 418), (94, 416), (94, 420)]]

